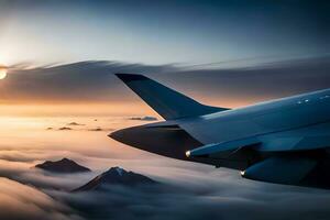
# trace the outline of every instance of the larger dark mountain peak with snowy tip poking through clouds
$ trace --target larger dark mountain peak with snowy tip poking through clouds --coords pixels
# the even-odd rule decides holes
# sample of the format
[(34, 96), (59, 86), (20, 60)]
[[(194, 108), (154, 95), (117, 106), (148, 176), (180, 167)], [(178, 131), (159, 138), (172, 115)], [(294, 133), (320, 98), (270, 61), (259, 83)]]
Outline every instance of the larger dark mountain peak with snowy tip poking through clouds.
[(155, 184), (158, 183), (141, 174), (112, 167), (73, 191), (106, 190), (106, 187), (111, 185), (135, 187)]

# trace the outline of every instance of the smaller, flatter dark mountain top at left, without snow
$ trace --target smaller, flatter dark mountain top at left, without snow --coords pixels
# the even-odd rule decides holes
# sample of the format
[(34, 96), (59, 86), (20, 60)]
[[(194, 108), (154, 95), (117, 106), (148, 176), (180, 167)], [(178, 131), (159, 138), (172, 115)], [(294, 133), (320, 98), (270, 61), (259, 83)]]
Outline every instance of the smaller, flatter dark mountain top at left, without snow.
[(77, 164), (76, 162), (63, 158), (56, 162), (46, 161), (43, 164), (35, 165), (36, 168), (41, 168), (47, 172), (63, 173), (63, 174), (73, 174), (81, 172), (90, 172), (89, 168)]

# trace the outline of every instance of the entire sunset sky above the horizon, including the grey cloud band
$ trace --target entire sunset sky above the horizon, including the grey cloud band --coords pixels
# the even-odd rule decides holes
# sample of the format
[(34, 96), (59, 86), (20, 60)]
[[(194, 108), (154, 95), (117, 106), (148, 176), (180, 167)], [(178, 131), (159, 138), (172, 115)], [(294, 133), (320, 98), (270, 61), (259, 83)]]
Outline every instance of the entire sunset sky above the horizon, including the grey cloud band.
[(3, 105), (106, 103), (94, 108), (105, 113), (128, 101), (152, 112), (117, 72), (150, 75), (228, 107), (326, 88), (328, 9), (294, 0), (2, 0), (0, 64), (9, 66), (0, 81), (2, 113), (24, 111)]

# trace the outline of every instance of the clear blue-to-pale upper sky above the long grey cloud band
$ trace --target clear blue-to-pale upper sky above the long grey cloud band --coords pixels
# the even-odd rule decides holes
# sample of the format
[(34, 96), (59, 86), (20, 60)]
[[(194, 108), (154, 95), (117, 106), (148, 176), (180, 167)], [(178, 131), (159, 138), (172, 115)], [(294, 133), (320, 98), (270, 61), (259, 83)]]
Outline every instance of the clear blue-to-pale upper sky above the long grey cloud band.
[[(329, 53), (327, 1), (0, 1), (0, 63), (260, 63)], [(234, 62), (231, 65), (239, 65)]]

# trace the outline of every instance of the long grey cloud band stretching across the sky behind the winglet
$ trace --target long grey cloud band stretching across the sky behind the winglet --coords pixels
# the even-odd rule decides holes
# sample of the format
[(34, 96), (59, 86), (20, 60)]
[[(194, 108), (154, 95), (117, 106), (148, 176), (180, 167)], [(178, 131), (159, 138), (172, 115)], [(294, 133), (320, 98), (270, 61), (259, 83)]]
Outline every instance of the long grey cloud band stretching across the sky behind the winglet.
[(8, 102), (131, 101), (134, 97), (132, 92), (113, 76), (121, 72), (152, 76), (204, 100), (251, 102), (328, 88), (329, 69), (330, 56), (284, 59), (248, 68), (179, 68), (173, 65), (81, 62), (15, 68), (6, 80), (0, 81), (0, 91), (1, 99)]

